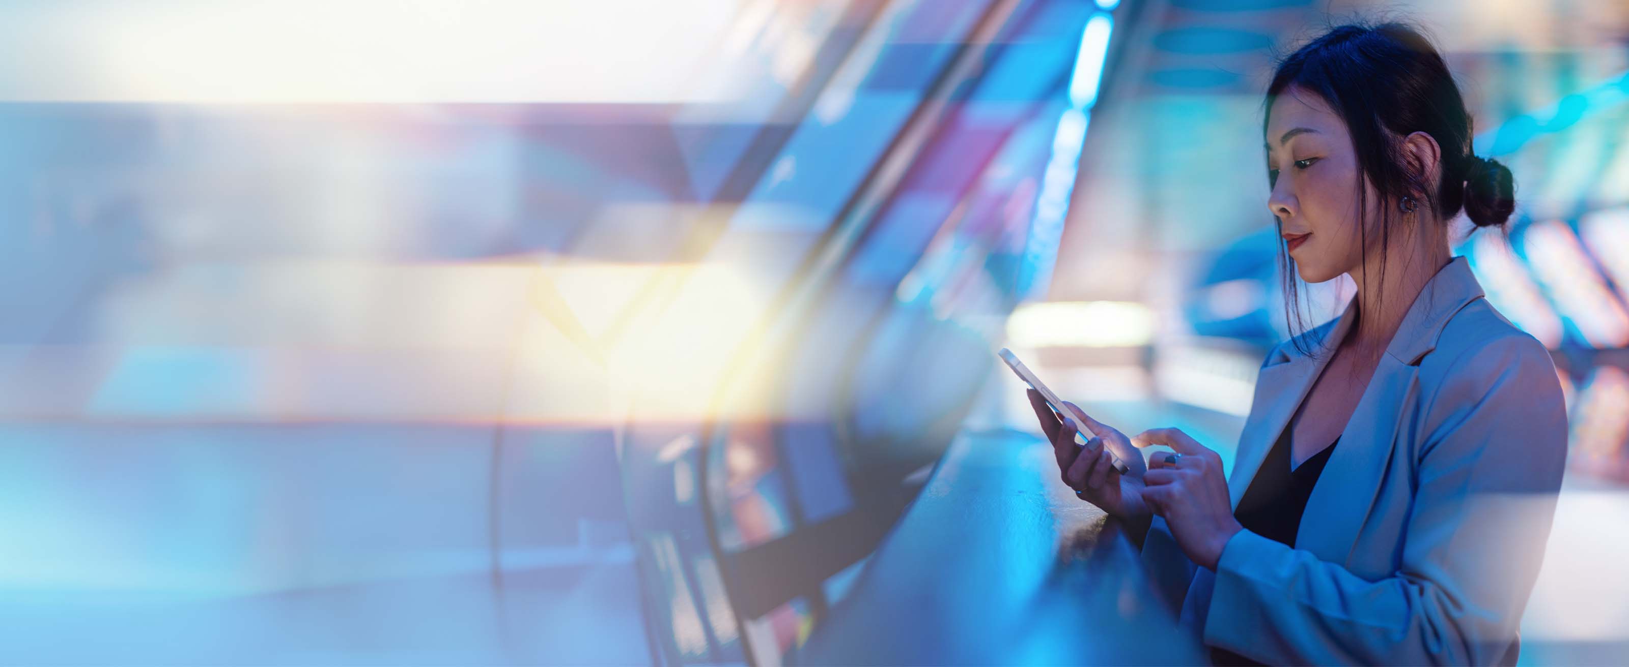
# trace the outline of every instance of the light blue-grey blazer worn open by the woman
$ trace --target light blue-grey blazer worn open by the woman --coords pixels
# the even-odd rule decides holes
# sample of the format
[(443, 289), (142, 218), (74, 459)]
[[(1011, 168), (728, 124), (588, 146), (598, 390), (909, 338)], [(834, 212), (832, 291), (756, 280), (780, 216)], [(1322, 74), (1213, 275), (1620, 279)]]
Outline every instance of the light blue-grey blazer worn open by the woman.
[[(1308, 348), (1350, 322), (1347, 306), (1303, 334)], [(1262, 363), (1228, 478), (1235, 508), (1321, 356), (1280, 343)], [(1510, 665), (1565, 457), (1549, 351), (1494, 311), (1455, 257), (1381, 355), (1295, 548), (1243, 530), (1210, 571), (1155, 517), (1142, 558), (1183, 628), (1256, 660)]]

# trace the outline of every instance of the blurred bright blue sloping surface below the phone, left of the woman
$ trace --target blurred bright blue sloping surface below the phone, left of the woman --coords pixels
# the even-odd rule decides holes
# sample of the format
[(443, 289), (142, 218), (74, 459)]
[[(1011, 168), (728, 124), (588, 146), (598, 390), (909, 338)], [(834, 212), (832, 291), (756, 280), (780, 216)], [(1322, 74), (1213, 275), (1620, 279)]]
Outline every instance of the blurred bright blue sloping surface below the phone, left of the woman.
[(964, 434), (854, 592), (790, 662), (805, 665), (1204, 664), (1117, 524), (1057, 482), (1016, 431)]

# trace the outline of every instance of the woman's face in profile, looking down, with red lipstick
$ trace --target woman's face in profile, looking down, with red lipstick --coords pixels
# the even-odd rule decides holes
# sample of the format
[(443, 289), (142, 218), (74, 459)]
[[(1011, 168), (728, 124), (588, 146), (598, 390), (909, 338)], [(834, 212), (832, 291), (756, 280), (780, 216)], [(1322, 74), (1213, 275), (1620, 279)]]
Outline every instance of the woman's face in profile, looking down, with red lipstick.
[[(1279, 218), (1302, 280), (1323, 283), (1355, 272), (1363, 260), (1360, 192), (1346, 122), (1318, 94), (1290, 88), (1267, 109), (1266, 140), (1267, 208)], [(1373, 198), (1367, 210), (1377, 210)]]

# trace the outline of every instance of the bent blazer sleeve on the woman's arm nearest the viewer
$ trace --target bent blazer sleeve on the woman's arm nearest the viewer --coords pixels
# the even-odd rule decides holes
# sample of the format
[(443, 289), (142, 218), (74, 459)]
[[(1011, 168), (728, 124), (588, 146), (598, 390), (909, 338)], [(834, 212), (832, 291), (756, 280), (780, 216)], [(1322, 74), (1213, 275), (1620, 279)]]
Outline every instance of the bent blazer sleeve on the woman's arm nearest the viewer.
[(1271, 664), (1505, 657), (1554, 519), (1565, 407), (1549, 353), (1526, 335), (1473, 347), (1447, 373), (1411, 452), (1399, 569), (1368, 581), (1241, 530), (1217, 563), (1207, 644)]

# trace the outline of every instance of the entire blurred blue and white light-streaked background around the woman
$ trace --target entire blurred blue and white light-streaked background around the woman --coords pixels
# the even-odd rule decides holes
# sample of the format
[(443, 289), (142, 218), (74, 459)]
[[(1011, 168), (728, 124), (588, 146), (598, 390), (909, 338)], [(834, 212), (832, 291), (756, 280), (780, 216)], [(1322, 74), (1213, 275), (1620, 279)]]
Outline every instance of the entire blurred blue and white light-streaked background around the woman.
[(0, 662), (1199, 660), (994, 350), (1230, 462), (1261, 93), (1354, 15), (1515, 172), (1455, 244), (1569, 399), (1521, 662), (1618, 662), (1600, 0), (10, 2)]

